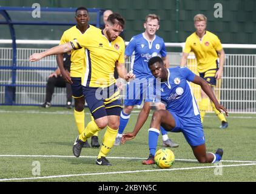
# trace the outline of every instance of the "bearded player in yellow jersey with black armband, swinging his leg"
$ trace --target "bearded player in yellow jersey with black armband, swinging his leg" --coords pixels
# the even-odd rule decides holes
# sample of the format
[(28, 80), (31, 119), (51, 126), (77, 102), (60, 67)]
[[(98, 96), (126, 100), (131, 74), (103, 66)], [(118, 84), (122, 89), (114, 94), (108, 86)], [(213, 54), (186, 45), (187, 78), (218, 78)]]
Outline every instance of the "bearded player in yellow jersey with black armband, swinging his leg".
[[(95, 132), (107, 127), (103, 144), (96, 164), (109, 166), (107, 153), (113, 147), (116, 133), (120, 125), (121, 100), (120, 91), (115, 85), (114, 68), (121, 78), (134, 79), (133, 73), (127, 73), (124, 66), (124, 41), (119, 36), (124, 28), (124, 19), (118, 13), (113, 13), (107, 19), (104, 30), (90, 25), (84, 35), (74, 41), (61, 44), (42, 53), (34, 53), (30, 61), (84, 47), (86, 55), (86, 70), (82, 78), (83, 94), (94, 118), (86, 129), (76, 138), (73, 154), (80, 156), (84, 142)], [(117, 62), (117, 63), (116, 63)]]

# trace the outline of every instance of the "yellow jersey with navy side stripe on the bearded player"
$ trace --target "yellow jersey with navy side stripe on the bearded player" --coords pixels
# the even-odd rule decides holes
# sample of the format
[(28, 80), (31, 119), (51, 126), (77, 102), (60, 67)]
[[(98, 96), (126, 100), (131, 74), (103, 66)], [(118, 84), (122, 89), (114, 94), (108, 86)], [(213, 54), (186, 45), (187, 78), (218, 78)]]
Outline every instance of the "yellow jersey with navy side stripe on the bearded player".
[[(78, 43), (78, 44), (77, 44)], [(82, 85), (89, 87), (109, 87), (115, 83), (115, 62), (124, 63), (124, 41), (118, 36), (109, 42), (103, 30), (93, 27), (87, 29), (72, 45), (76, 49), (84, 47), (86, 55), (86, 72)]]

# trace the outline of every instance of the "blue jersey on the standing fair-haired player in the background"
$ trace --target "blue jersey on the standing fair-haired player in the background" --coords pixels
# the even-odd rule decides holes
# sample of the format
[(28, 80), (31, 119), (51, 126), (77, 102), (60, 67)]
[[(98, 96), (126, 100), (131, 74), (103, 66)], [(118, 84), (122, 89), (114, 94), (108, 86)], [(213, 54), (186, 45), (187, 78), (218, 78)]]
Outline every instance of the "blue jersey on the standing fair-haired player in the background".
[(149, 42), (144, 33), (133, 36), (126, 47), (125, 55), (131, 56), (135, 53), (135, 58), (132, 59), (131, 69), (136, 75), (136, 78), (152, 78), (153, 75), (147, 66), (147, 62), (153, 56), (166, 56), (166, 47), (163, 38), (155, 35), (155, 39)]

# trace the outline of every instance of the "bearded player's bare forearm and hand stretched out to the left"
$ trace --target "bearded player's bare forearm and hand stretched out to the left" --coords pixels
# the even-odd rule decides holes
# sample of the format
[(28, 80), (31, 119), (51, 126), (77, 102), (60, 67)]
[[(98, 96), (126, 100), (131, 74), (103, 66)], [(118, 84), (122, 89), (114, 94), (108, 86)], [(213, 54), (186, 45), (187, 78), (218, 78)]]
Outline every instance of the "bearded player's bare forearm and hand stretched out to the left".
[(52, 47), (51, 49), (45, 50), (44, 52), (41, 53), (34, 53), (33, 55), (30, 55), (29, 61), (34, 62), (34, 61), (39, 61), (40, 59), (44, 58), (45, 56), (50, 56), (50, 55), (57, 55), (61, 53), (67, 53), (72, 50), (72, 45), (70, 42), (67, 42), (65, 44), (58, 45), (56, 47)]

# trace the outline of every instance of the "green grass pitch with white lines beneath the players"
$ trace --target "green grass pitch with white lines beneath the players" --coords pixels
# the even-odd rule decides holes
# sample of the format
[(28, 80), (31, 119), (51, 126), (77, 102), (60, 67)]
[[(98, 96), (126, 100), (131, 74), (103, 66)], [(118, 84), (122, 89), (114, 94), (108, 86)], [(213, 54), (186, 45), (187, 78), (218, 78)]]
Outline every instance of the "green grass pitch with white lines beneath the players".
[[(132, 114), (125, 132), (133, 130), (137, 116)], [(89, 119), (86, 109), (86, 123)], [(229, 127), (221, 130), (217, 116), (207, 114), (203, 124), (207, 151), (224, 150), (221, 166), (194, 161), (183, 134), (168, 133), (180, 144), (171, 149), (176, 160), (168, 170), (141, 164), (149, 155), (150, 119), (135, 139), (112, 148), (107, 158), (113, 166), (104, 167), (95, 164), (99, 149), (83, 149), (81, 158), (73, 156), (78, 135), (73, 110), (1, 106), (0, 181), (256, 181), (256, 115), (230, 114)], [(100, 142), (104, 131), (99, 132)], [(160, 135), (158, 149), (161, 144)]]

